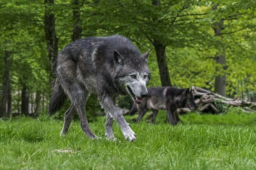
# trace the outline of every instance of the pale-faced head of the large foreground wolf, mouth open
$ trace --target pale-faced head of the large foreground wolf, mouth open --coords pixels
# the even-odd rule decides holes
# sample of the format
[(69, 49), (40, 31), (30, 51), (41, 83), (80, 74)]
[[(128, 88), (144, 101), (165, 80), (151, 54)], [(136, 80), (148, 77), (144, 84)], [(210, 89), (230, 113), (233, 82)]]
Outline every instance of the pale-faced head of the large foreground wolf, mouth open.
[(146, 84), (151, 74), (148, 69), (148, 50), (145, 54), (137, 54), (132, 51), (113, 51), (115, 65), (114, 81), (121, 91), (127, 91), (135, 103), (141, 104), (143, 98), (148, 95)]

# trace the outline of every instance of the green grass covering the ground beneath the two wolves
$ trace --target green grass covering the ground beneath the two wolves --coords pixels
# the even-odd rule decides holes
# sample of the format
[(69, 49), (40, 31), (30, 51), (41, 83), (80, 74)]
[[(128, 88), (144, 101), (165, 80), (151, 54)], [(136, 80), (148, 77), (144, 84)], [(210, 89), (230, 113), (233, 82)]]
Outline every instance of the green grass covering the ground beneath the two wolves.
[[(60, 137), (62, 121), (12, 118), (0, 120), (0, 170), (14, 169), (233, 169), (256, 168), (256, 114), (228, 113), (180, 116), (182, 124), (165, 123), (160, 111), (157, 125), (130, 122), (135, 142), (104, 138), (105, 118), (90, 127), (102, 140), (90, 140), (74, 121), (70, 133)], [(133, 117), (126, 117), (129, 121)], [(56, 150), (67, 150), (58, 153)]]

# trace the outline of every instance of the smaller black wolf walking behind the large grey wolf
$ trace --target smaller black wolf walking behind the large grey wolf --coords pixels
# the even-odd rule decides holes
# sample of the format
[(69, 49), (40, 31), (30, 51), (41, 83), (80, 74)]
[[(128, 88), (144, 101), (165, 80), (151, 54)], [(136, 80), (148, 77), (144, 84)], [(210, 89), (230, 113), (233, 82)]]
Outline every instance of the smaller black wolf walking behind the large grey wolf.
[(136, 111), (139, 112), (139, 117), (136, 122), (140, 122), (141, 118), (149, 110), (153, 110), (152, 122), (156, 122), (158, 110), (166, 110), (169, 123), (176, 125), (180, 121), (178, 114), (175, 112), (177, 108), (188, 107), (191, 110), (197, 108), (194, 101), (192, 91), (173, 87), (153, 87), (148, 88), (148, 96), (140, 105), (134, 103), (130, 110), (130, 115)]

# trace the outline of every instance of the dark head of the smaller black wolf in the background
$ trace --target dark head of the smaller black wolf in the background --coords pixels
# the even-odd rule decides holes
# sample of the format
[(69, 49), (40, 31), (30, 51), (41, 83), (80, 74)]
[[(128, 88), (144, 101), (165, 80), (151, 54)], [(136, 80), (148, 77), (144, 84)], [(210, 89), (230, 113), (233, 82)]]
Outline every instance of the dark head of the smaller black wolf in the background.
[(179, 96), (179, 108), (188, 107), (190, 110), (195, 110), (198, 106), (195, 103), (194, 96), (192, 94), (192, 90), (187, 88), (182, 94)]

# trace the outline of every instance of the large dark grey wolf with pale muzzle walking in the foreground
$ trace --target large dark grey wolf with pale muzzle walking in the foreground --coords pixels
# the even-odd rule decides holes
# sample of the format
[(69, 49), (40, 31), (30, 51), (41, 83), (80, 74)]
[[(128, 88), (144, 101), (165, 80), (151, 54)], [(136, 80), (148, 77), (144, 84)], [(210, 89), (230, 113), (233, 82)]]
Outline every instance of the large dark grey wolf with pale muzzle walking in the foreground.
[(72, 116), (77, 112), (83, 132), (91, 139), (98, 138), (90, 129), (85, 113), (89, 94), (96, 93), (107, 116), (106, 138), (116, 139), (112, 130), (115, 119), (125, 139), (133, 142), (136, 135), (115, 102), (119, 95), (127, 93), (135, 103), (143, 102), (151, 77), (147, 65), (149, 51), (140, 54), (130, 40), (119, 35), (87, 37), (63, 48), (58, 54), (57, 78), (48, 111), (52, 115), (70, 98), (72, 104), (65, 112), (61, 135), (68, 133)]

